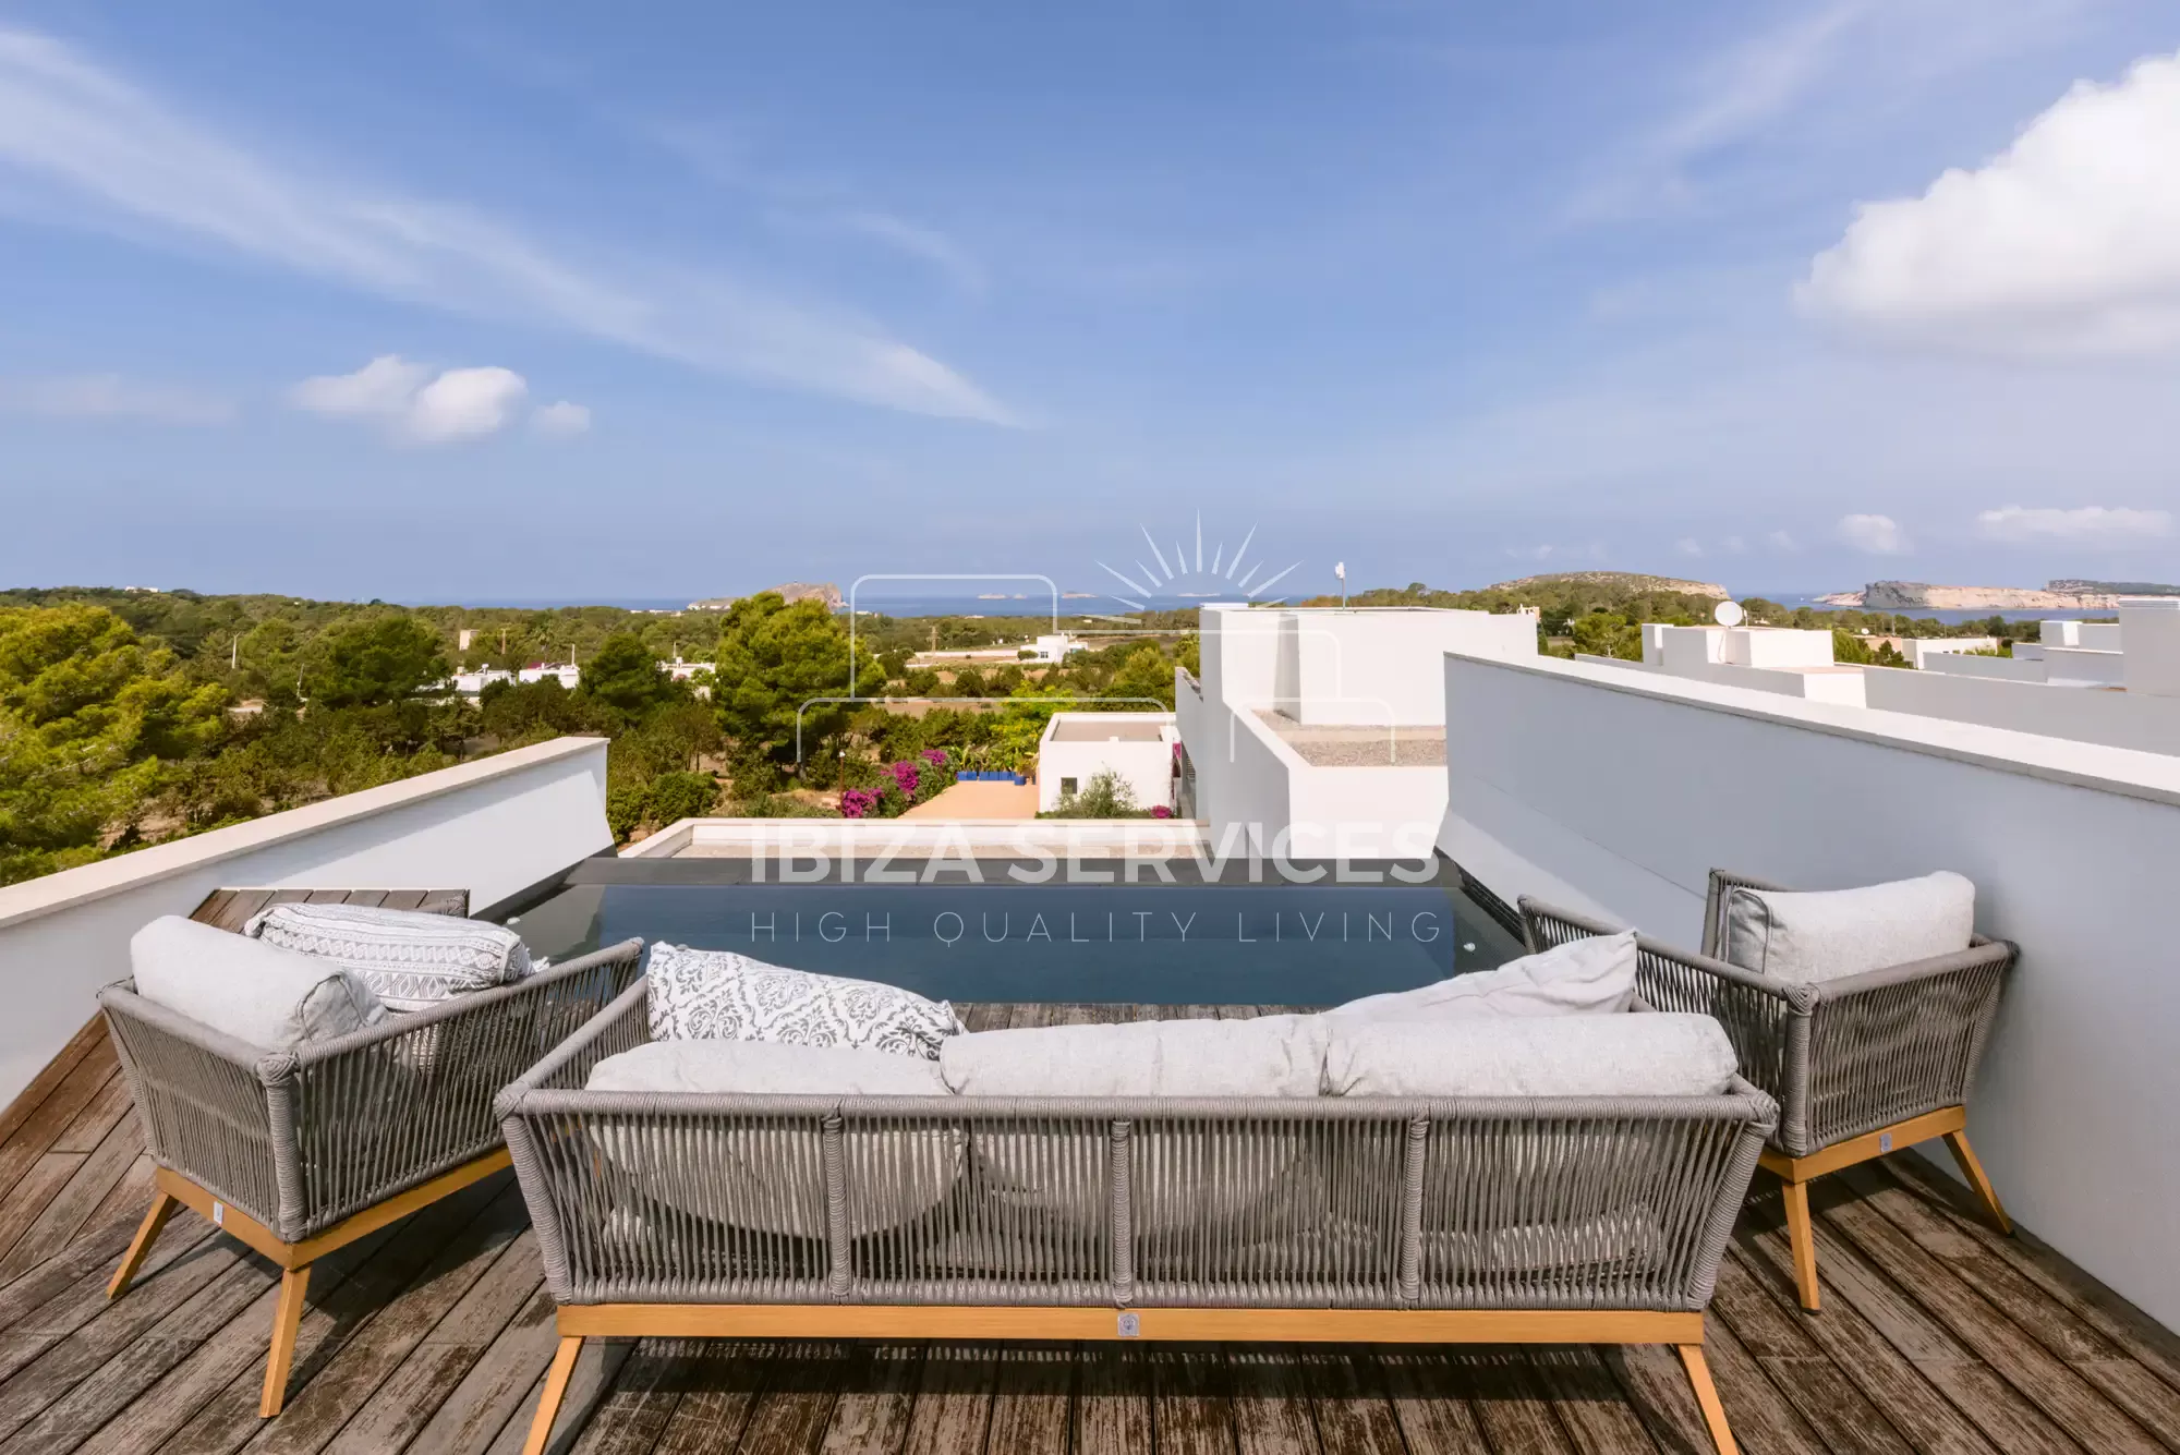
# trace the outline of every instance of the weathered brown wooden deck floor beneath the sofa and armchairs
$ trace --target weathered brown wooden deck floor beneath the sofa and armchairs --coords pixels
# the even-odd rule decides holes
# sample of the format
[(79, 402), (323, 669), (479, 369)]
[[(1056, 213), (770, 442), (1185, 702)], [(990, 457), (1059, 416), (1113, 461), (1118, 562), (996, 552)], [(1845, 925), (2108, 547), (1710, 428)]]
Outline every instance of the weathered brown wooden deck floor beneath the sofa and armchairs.
[[(974, 1006), (972, 1024), (1254, 1006)], [(552, 1300), (508, 1174), (318, 1266), (288, 1409), (259, 1422), (277, 1270), (179, 1213), (105, 1281), (150, 1163), (89, 1028), (0, 1124), (0, 1455), (521, 1446)], [(1761, 1178), (1759, 1183), (1768, 1181)], [(1761, 1191), (1761, 1189), (1759, 1189)], [(1711, 1368), (1770, 1451), (2180, 1451), (2180, 1340), (1912, 1157), (1818, 1183), (1827, 1309), (1792, 1296), (1777, 1198), (1742, 1222)], [(1685, 1455), (1666, 1348), (600, 1344), (556, 1451)]]

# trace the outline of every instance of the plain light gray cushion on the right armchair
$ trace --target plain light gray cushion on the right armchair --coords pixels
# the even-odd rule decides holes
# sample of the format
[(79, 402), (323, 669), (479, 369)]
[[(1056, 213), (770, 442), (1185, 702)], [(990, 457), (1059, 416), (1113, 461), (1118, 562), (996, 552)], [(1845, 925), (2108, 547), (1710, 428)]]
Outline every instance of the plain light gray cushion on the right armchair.
[(1925, 873), (1866, 889), (1735, 889), (1727, 895), (1727, 963), (1816, 985), (1966, 950), (1975, 884)]

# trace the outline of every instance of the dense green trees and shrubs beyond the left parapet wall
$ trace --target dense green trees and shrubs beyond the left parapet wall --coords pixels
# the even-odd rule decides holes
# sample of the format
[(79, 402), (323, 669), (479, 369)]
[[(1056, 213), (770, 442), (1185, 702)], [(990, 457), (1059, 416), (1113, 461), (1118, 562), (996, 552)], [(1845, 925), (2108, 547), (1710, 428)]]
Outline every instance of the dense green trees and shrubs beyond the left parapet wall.
[[(931, 640), (990, 649), (1036, 625), (859, 619), (861, 697), (988, 699), (887, 710), (813, 701), (848, 695), (848, 623), (772, 592), (678, 614), (0, 592), (0, 884), (560, 734), (610, 738), (619, 839), (715, 810), (900, 812), (957, 767), (1027, 767), (1057, 708), (1171, 706), (1175, 662), (1195, 667), (1192, 638), (1149, 632), (1066, 667), (911, 667)], [(682, 658), (708, 669), (661, 671)], [(447, 690), (458, 669), (567, 660), (573, 690)]]

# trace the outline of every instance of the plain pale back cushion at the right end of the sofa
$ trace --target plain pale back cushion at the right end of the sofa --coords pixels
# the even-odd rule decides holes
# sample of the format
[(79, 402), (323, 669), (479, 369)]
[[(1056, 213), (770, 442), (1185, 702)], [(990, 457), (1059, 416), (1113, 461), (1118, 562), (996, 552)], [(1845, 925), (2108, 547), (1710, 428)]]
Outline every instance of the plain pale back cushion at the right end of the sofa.
[(1325, 1046), (1332, 1096), (1716, 1096), (1733, 1072), (1709, 1015), (1336, 1019)]

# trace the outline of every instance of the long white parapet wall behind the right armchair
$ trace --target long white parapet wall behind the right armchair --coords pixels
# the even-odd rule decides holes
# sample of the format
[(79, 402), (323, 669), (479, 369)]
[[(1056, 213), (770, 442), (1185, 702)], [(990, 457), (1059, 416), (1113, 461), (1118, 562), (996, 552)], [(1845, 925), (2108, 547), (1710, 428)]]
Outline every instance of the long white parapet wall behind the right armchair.
[(1445, 697), (1439, 845), (1506, 900), (1694, 947), (1713, 865), (1975, 880), (2021, 945), (1975, 1146), (2023, 1226), (2180, 1326), (2180, 760), (1548, 658), (1450, 653)]

